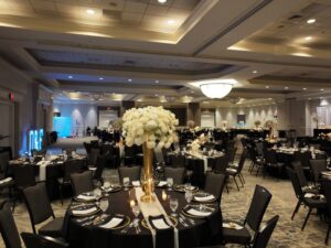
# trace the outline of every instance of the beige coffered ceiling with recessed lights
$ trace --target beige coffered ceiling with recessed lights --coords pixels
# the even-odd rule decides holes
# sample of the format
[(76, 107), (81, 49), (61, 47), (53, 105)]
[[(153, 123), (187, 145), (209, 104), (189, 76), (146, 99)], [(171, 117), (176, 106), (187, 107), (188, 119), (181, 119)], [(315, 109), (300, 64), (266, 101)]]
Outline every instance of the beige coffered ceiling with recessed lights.
[[(0, 56), (66, 103), (252, 106), (331, 95), (330, 19), (329, 0), (0, 0)], [(237, 84), (212, 101), (211, 78)]]

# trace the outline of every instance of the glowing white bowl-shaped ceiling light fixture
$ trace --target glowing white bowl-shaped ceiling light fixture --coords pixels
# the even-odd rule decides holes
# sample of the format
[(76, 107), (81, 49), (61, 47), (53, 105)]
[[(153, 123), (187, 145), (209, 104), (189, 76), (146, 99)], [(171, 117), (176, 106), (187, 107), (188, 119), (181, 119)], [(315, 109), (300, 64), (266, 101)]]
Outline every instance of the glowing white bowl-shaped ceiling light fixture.
[(234, 84), (236, 83), (237, 80), (233, 78), (220, 78), (199, 82), (200, 89), (203, 95), (212, 99), (222, 99), (223, 97), (228, 95)]

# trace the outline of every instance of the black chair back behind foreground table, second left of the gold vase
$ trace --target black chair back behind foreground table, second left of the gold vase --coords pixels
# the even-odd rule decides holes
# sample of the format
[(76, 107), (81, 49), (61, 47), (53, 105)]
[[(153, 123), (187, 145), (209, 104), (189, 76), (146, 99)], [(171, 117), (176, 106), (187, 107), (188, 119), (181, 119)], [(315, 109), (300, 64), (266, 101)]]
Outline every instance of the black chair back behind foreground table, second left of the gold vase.
[(92, 171), (71, 174), (71, 182), (73, 186), (73, 193), (75, 196), (85, 192), (90, 192), (94, 188)]

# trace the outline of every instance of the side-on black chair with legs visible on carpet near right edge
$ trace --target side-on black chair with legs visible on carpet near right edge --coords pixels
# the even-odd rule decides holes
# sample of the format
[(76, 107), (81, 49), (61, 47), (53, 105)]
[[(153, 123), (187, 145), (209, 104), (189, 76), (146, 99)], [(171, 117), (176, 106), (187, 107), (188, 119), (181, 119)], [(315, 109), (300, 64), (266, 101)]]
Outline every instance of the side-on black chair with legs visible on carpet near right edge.
[(301, 227), (301, 230), (303, 230), (312, 209), (313, 208), (317, 208), (317, 209), (325, 208), (325, 206), (327, 206), (325, 201), (322, 200), (322, 198), (308, 197), (301, 190), (299, 179), (298, 179), (298, 175), (297, 175), (296, 171), (290, 169), (290, 168), (287, 168), (286, 170), (287, 170), (287, 174), (288, 174), (288, 176), (291, 181), (292, 187), (295, 190), (295, 194), (298, 198), (298, 203), (297, 203), (297, 206), (293, 211), (291, 219), (293, 219), (295, 215), (298, 213), (298, 211), (299, 211), (299, 208), (302, 204), (309, 208), (308, 214), (307, 214), (307, 216), (305, 218), (305, 222), (302, 224), (302, 227)]

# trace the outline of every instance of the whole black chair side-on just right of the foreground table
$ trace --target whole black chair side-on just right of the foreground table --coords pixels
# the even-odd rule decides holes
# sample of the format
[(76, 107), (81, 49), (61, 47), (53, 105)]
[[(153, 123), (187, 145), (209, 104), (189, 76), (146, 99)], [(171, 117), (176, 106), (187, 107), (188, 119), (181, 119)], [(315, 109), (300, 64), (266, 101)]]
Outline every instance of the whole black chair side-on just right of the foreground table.
[[(234, 229), (223, 227), (224, 242), (239, 244), (244, 246), (252, 245), (252, 241), (254, 241), (257, 237), (260, 223), (263, 220), (263, 217), (266, 213), (271, 197), (273, 195), (267, 188), (260, 185), (256, 185), (246, 218), (243, 225), (241, 225), (243, 228)], [(228, 222), (225, 220), (223, 223)], [(253, 235), (249, 230), (253, 231)]]

